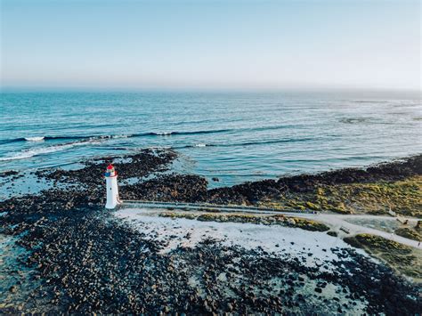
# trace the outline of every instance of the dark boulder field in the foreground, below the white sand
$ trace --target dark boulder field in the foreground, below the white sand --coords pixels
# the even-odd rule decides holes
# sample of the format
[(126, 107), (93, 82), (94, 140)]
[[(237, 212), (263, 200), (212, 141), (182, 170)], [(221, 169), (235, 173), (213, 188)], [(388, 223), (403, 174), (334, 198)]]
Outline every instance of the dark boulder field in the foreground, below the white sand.
[[(166, 242), (95, 210), (79, 212), (11, 231), (25, 231), (19, 245), (32, 249), (25, 264), (42, 280), (32, 296), (47, 297), (61, 312), (337, 313), (367, 304), (365, 312), (407, 314), (421, 307), (418, 288), (350, 249), (333, 249), (336, 271), (215, 240), (162, 255)], [(334, 289), (331, 300), (323, 297), (326, 288)]]

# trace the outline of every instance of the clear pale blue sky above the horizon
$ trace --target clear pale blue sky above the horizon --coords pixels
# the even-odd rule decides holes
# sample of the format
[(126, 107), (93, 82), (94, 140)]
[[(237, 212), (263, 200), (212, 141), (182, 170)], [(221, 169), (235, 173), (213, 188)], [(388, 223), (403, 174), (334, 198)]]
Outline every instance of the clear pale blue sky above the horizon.
[(0, 0), (1, 87), (420, 90), (419, 0)]

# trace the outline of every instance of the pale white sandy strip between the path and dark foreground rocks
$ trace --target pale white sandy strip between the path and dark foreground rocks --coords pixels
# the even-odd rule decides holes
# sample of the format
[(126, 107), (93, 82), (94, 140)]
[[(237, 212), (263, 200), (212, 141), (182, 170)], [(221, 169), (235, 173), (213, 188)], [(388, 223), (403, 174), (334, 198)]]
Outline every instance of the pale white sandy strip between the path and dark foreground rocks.
[[(247, 249), (261, 247), (273, 254), (284, 254), (303, 258), (307, 265), (327, 264), (337, 259), (331, 248), (350, 247), (342, 239), (321, 231), (304, 231), (281, 225), (256, 223), (233, 223), (197, 221), (186, 218), (158, 216), (157, 209), (126, 208), (115, 215), (126, 219), (151, 239), (166, 240), (163, 252), (176, 247), (195, 247), (204, 239), (216, 239), (226, 246), (240, 246)], [(358, 250), (364, 255), (364, 252)], [(308, 255), (312, 254), (312, 255)], [(334, 268), (334, 267), (330, 267)]]

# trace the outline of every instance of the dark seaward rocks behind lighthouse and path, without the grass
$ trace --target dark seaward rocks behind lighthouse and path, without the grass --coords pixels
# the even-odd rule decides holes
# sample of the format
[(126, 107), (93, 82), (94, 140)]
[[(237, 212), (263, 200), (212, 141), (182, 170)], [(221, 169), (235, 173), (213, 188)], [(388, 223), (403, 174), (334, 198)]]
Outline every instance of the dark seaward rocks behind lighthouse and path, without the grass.
[[(81, 162), (84, 167), (77, 170), (59, 168), (37, 171), (35, 174), (38, 181), (53, 182), (55, 187), (60, 184), (67, 187), (62, 190), (55, 188), (44, 190), (36, 197), (34, 195), (13, 197), (0, 205), (0, 212), (2, 209), (13, 207), (14, 203), (25, 204), (26, 209), (30, 207), (47, 210), (52, 208), (45, 206), (43, 201), (53, 202), (56, 204), (56, 207), (53, 208), (64, 208), (64, 210), (77, 206), (101, 206), (104, 204), (105, 189), (100, 174), (103, 174), (104, 166), (109, 162), (113, 162), (118, 170), (121, 199), (209, 202), (220, 205), (256, 205), (274, 199), (278, 200), (280, 197), (293, 196), (296, 198), (303, 193), (319, 192), (321, 188), (324, 188), (321, 186), (324, 185), (389, 183), (422, 175), (422, 155), (418, 155), (377, 166), (369, 166), (366, 169), (346, 168), (321, 174), (281, 177), (278, 181), (245, 182), (232, 187), (208, 190), (207, 179), (204, 177), (196, 174), (171, 173), (171, 164), (176, 158), (177, 153), (173, 150), (141, 150), (134, 155), (97, 158), (93, 161)], [(149, 179), (151, 175), (152, 178)], [(6, 172), (3, 176), (12, 176), (13, 179), (16, 179), (19, 174)], [(130, 183), (131, 181), (134, 183)], [(379, 190), (379, 188), (376, 189)], [(414, 190), (417, 191), (416, 199), (418, 199), (418, 188)], [(326, 199), (326, 197), (319, 198)], [(310, 201), (303, 205), (298, 205), (296, 202), (295, 199), (290, 199), (287, 205), (291, 205), (291, 209), (317, 207)], [(326, 201), (322, 201), (322, 203), (326, 203)], [(420, 203), (418, 204), (418, 201), (415, 203), (414, 207), (418, 208), (415, 215), (422, 215)], [(333, 211), (329, 207), (327, 210)], [(34, 209), (31, 208), (31, 212), (33, 211)]]

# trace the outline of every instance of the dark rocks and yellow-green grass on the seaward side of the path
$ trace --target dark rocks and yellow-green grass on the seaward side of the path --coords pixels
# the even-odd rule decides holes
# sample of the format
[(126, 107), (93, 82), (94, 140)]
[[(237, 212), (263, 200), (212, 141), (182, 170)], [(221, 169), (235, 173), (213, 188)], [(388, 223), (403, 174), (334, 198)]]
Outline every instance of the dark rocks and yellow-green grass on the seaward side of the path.
[[(366, 169), (302, 174), (212, 190), (207, 189), (207, 179), (200, 175), (169, 173), (176, 158), (172, 150), (141, 150), (134, 155), (81, 162), (84, 167), (77, 170), (38, 171), (40, 180), (67, 186), (66, 190), (42, 192), (40, 197), (48, 195), (45, 199), (50, 200), (57, 196), (57, 203), (61, 199), (73, 203), (72, 197), (80, 196), (76, 200), (80, 200), (81, 205), (102, 205), (103, 179), (98, 175), (103, 173), (106, 164), (113, 162), (121, 182), (121, 199), (262, 206), (282, 211), (309, 209), (374, 215), (394, 211), (400, 215), (422, 215), (422, 155)], [(74, 189), (69, 183), (79, 185)], [(30, 204), (34, 197), (28, 199)]]

